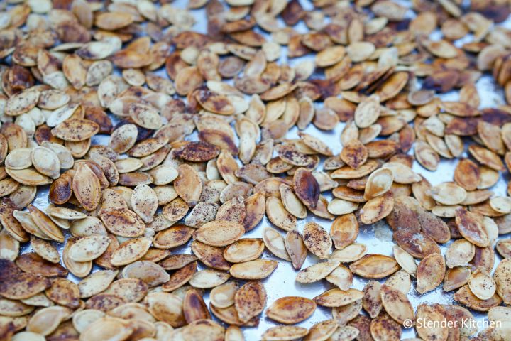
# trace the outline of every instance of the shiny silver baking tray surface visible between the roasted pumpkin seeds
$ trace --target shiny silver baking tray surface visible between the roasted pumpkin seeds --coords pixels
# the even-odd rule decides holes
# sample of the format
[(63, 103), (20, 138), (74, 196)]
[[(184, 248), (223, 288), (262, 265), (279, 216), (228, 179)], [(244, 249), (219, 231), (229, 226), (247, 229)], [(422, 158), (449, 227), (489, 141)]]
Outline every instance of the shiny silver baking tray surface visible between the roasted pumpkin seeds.
[[(347, 1), (346, 1), (347, 2)], [(396, 1), (402, 5), (410, 6), (410, 1)], [(304, 6), (304, 9), (312, 10), (314, 7), (312, 6), (310, 1), (304, 1), (300, 0), (300, 3), (302, 6)], [(180, 9), (186, 9), (187, 7), (187, 0), (176, 0), (172, 2), (172, 6), (175, 6), (176, 8)], [(194, 18), (196, 18), (197, 23), (193, 27), (193, 31), (197, 31), (199, 33), (207, 33), (207, 18), (205, 9), (198, 9), (198, 10), (191, 10), (190, 13), (193, 14)], [(410, 18), (412, 18), (413, 13), (412, 11), (409, 11), (408, 15)], [(281, 20), (281, 19), (279, 19)], [(508, 19), (505, 23), (502, 23), (501, 25), (511, 28), (511, 20)], [(282, 23), (282, 27), (285, 25)], [(301, 21), (297, 24), (297, 26), (294, 27), (296, 31), (300, 33), (306, 33), (307, 27), (304, 25), (304, 23)], [(265, 33), (264, 31), (260, 31), (258, 28), (256, 28), (258, 33), (263, 34), (267, 38), (267, 40), (271, 40), (270, 36)], [(432, 38), (439, 37), (440, 33), (435, 32), (432, 34)], [(470, 36), (467, 36), (463, 38), (463, 40), (456, 41), (455, 45), (460, 47), (463, 43), (466, 43), (470, 41)], [(292, 58), (290, 60), (287, 60), (287, 50), (285, 47), (282, 47), (281, 51), (281, 58), (278, 61), (278, 63), (287, 63), (288, 65), (296, 65), (297, 63), (300, 63), (302, 60), (312, 59), (312, 55), (305, 55), (302, 58)], [(167, 77), (166, 72), (164, 69), (158, 70), (158, 75), (161, 75), (163, 77)], [(232, 82), (231, 82), (232, 84)], [(485, 107), (496, 107), (500, 104), (505, 104), (504, 100), (504, 94), (501, 87), (498, 87), (495, 85), (495, 82), (493, 81), (493, 78), (490, 75), (483, 75), (483, 77), (478, 80), (476, 87), (478, 89), (478, 92), (480, 94), (481, 99), (481, 105), (480, 108)], [(441, 94), (441, 99), (444, 100), (457, 100), (458, 99), (458, 93), (457, 92), (449, 92), (447, 94)], [(315, 103), (317, 107), (321, 107), (321, 103)], [(116, 117), (112, 116), (112, 119), (114, 122), (118, 121)], [(309, 124), (307, 129), (304, 130), (304, 132), (311, 134), (313, 136), (317, 136), (318, 138), (322, 139), (323, 141), (326, 141), (326, 143), (330, 146), (332, 151), (334, 151), (335, 154), (338, 154), (341, 152), (342, 146), (340, 141), (340, 134), (342, 129), (344, 128), (344, 123), (341, 122), (341, 124), (338, 124), (336, 128), (333, 131), (322, 131), (317, 129), (314, 125)], [(290, 139), (297, 138), (297, 132), (298, 129), (293, 127), (289, 134), (287, 135)], [(194, 133), (190, 136), (187, 136), (187, 140), (197, 140), (197, 134)], [(92, 144), (107, 144), (108, 143), (108, 136), (94, 136), (92, 139)], [(412, 154), (413, 150), (410, 151)], [(463, 156), (466, 157), (467, 153), (463, 153)], [(436, 171), (427, 171), (425, 168), (422, 168), (422, 166), (419, 165), (419, 163), (415, 162), (413, 166), (413, 170), (421, 175), (424, 176), (427, 180), (429, 180), (432, 185), (436, 185), (438, 183), (444, 182), (444, 181), (451, 181), (453, 180), (454, 175), (454, 168), (456, 167), (457, 160), (448, 160), (445, 158), (441, 158), (441, 162), (439, 164), (439, 167)], [(321, 166), (319, 167), (321, 169)], [(500, 179), (498, 180), (498, 183), (491, 188), (495, 195), (507, 195), (507, 181), (510, 180), (509, 173), (501, 173)], [(324, 192), (322, 193), (328, 200), (331, 200), (331, 192)], [(48, 206), (48, 186), (44, 186), (41, 188), (38, 188), (38, 193), (35, 197), (35, 200), (33, 202), (33, 205), (36, 207), (44, 210), (45, 207)], [(307, 222), (317, 222), (322, 227), (324, 227), (327, 231), (330, 230), (331, 221), (322, 219), (320, 217), (316, 217), (309, 213), (307, 218), (303, 220), (298, 220), (297, 227), (300, 233), (303, 231), (303, 227)], [(265, 227), (274, 227), (275, 229), (282, 232), (282, 235), (285, 235), (283, 231), (278, 229), (277, 227), (273, 226), (271, 222), (269, 222), (267, 217), (264, 217), (262, 222), (253, 229), (251, 232), (248, 232), (243, 237), (246, 238), (262, 238), (263, 229)], [(66, 237), (68, 237), (68, 232), (65, 231)], [(376, 253), (376, 254), (385, 254), (385, 255), (392, 255), (392, 246), (394, 243), (392, 242), (392, 232), (390, 230), (390, 227), (388, 227), (388, 224), (385, 222), (377, 222), (373, 225), (362, 225), (360, 228), (360, 232), (358, 234), (358, 238), (356, 242), (366, 244), (367, 252), (366, 253)], [(442, 254), (445, 254), (446, 247), (451, 244), (452, 241), (440, 245), (440, 249), (442, 251)], [(63, 244), (57, 245), (57, 247), (60, 247), (60, 251), (63, 247)], [(22, 248), (22, 253), (31, 251), (31, 247), (29, 244), (26, 244)], [(177, 249), (172, 249), (172, 254), (176, 253), (192, 253), (189, 246), (180, 247)], [(284, 296), (303, 296), (307, 298), (314, 298), (315, 296), (323, 293), (326, 290), (329, 290), (330, 288), (334, 288), (334, 285), (331, 283), (328, 283), (327, 281), (319, 281), (317, 283), (311, 283), (311, 284), (301, 284), (295, 282), (295, 276), (297, 274), (297, 270), (293, 269), (290, 262), (283, 261), (282, 259), (278, 259), (273, 254), (271, 254), (268, 250), (265, 250), (263, 253), (263, 258), (265, 259), (275, 259), (278, 261), (278, 267), (275, 269), (273, 274), (263, 280), (263, 284), (265, 286), (266, 292), (268, 294), (268, 302), (266, 305), (266, 308), (273, 303), (278, 298), (284, 297)], [(500, 256), (498, 254), (495, 255), (496, 261), (495, 264), (498, 264), (498, 261), (500, 261)], [(307, 260), (304, 262), (302, 269), (305, 267), (316, 264), (317, 262), (321, 261), (319, 258), (312, 254), (308, 254)], [(97, 271), (99, 267), (94, 266), (93, 271)], [(202, 264), (199, 264), (199, 269), (206, 269), (205, 266)], [(79, 278), (76, 278), (72, 275), (69, 276), (70, 280), (78, 282)], [(386, 278), (381, 280), (380, 282), (384, 282)], [(413, 279), (413, 278), (412, 278)], [(353, 286), (352, 288), (357, 288), (359, 290), (362, 290), (365, 284), (367, 283), (366, 279), (363, 279), (359, 276), (353, 276)], [(424, 295), (419, 295), (417, 291), (415, 291), (415, 281), (412, 281), (412, 289), (408, 293), (408, 298), (410, 299), (414, 309), (417, 308), (417, 305), (421, 303), (454, 303), (453, 300), (453, 294), (454, 291), (451, 291), (449, 293), (446, 293), (442, 290), (441, 286), (436, 288), (436, 290), (431, 291), (429, 293), (426, 293)], [(207, 305), (209, 305), (209, 291), (204, 296), (204, 301), (206, 301)], [(474, 317), (476, 320), (480, 323), (482, 326), (483, 320), (485, 320), (486, 313), (477, 313), (475, 311), (472, 311), (474, 314)], [(322, 320), (327, 320), (329, 318), (332, 318), (331, 315), (331, 308), (325, 308), (322, 306), (318, 306), (315, 313), (307, 320), (304, 320), (302, 323), (298, 323), (297, 325), (300, 325), (304, 328), (310, 328), (314, 323), (318, 323)], [(216, 318), (214, 318), (216, 320)], [(243, 335), (245, 336), (246, 340), (260, 340), (260, 335), (265, 332), (270, 327), (273, 327), (275, 325), (278, 325), (273, 320), (270, 320), (265, 316), (265, 313), (263, 312), (260, 315), (260, 323), (257, 327), (252, 328), (246, 328), (243, 327)], [(484, 328), (479, 328), (480, 330)], [(415, 337), (415, 331), (413, 328), (403, 329), (402, 338), (408, 338), (408, 337)]]

